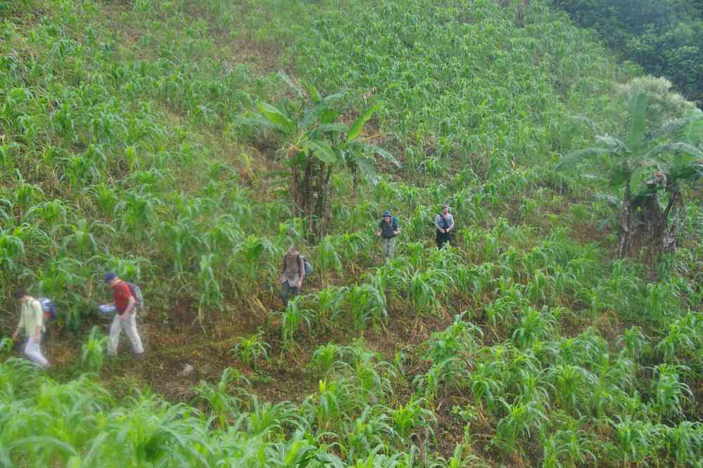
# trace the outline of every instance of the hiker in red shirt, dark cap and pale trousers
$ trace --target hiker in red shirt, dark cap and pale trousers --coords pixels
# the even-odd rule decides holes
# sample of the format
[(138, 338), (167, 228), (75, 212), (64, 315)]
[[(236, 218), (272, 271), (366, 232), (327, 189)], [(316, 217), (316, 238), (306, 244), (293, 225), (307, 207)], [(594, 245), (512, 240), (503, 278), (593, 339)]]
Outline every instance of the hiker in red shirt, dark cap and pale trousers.
[(105, 275), (105, 282), (113, 287), (113, 301), (115, 304), (115, 318), (110, 326), (110, 342), (108, 342), (108, 354), (117, 355), (118, 344), (122, 329), (127, 333), (129, 341), (132, 342), (134, 354), (141, 356), (144, 348), (141, 346), (141, 338), (137, 332), (137, 299), (134, 299), (132, 290), (126, 282), (120, 280), (118, 275), (111, 272)]

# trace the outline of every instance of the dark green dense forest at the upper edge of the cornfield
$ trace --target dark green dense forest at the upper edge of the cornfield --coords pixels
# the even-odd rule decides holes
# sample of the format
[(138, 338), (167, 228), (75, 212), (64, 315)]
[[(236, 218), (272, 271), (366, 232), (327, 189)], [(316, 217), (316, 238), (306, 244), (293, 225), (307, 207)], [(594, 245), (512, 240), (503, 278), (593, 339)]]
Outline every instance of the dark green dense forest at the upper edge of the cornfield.
[(703, 2), (699, 0), (554, 0), (609, 48), (688, 99), (703, 101)]

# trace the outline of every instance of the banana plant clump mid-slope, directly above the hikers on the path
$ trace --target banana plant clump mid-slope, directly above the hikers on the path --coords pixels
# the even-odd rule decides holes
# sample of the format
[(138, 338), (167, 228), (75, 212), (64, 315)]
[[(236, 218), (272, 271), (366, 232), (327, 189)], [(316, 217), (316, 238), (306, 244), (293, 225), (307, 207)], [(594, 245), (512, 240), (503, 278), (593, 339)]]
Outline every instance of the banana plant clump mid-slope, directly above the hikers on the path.
[(374, 155), (396, 166), (398, 161), (391, 153), (361, 138), (364, 125), (381, 108), (380, 103), (371, 105), (347, 125), (339, 122), (335, 108), (345, 91), (323, 98), (314, 86), (308, 86), (305, 93), (289, 77), (284, 79), (309, 104), (296, 112), (262, 102), (259, 115), (240, 122), (265, 126), (283, 137), (286, 164), (291, 167), (294, 214), (308, 220), (308, 232), (319, 238), (324, 235), (329, 218), (329, 180), (333, 171), (348, 167), (355, 174), (373, 177)]

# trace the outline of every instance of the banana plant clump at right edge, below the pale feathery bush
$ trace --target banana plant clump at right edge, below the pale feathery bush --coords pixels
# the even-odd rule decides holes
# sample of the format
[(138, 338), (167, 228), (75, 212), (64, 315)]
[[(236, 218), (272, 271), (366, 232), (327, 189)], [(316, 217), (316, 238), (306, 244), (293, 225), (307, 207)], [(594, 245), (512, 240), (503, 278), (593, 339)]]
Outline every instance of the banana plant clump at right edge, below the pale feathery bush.
[[(619, 257), (631, 254), (636, 240), (656, 251), (675, 249), (679, 223), (669, 220), (676, 219), (677, 208), (683, 207), (680, 184), (703, 176), (703, 152), (695, 147), (703, 130), (701, 112), (647, 131), (647, 106), (647, 93), (635, 93), (630, 100), (625, 141), (609, 135), (597, 136), (599, 145), (571, 152), (557, 165), (557, 169), (570, 169), (585, 160), (594, 160), (607, 171), (612, 186), (624, 186), (616, 247)], [(672, 134), (680, 136), (684, 128), (685, 141), (666, 138)], [(652, 172), (652, 179), (645, 181)], [(664, 209), (657, 198), (662, 192), (668, 197)]]

